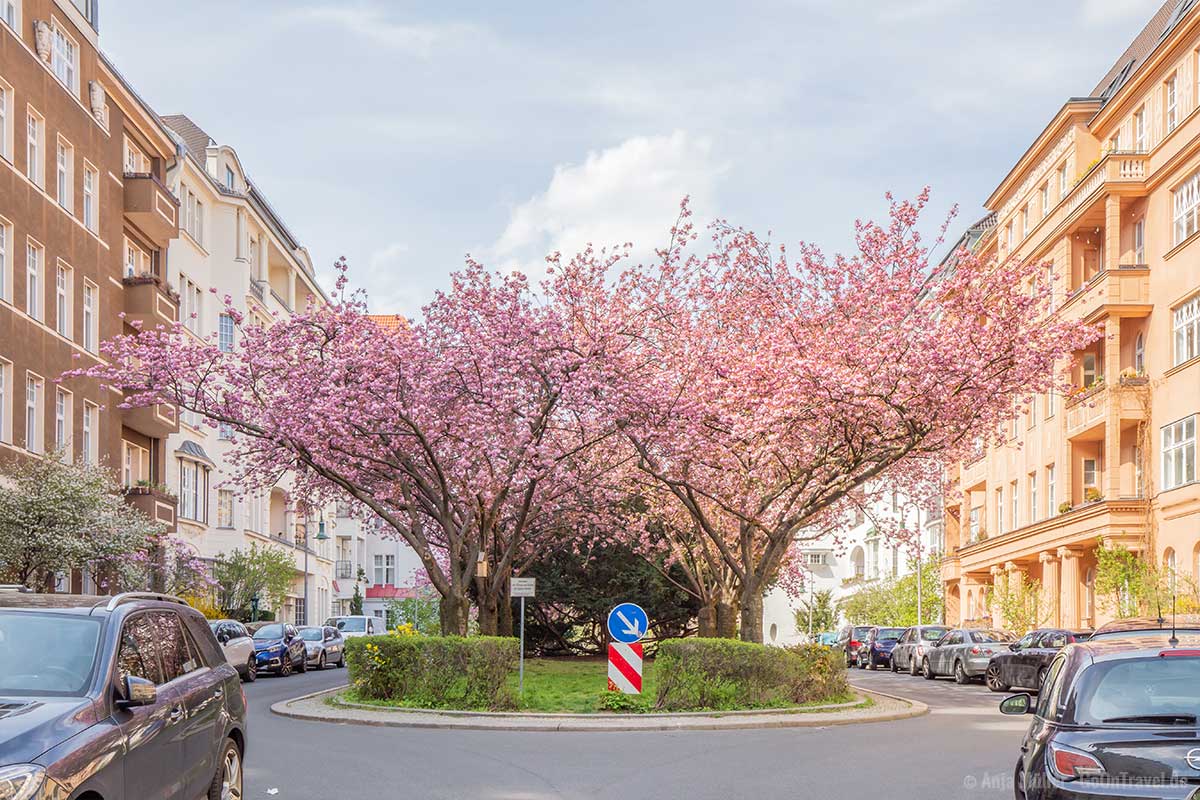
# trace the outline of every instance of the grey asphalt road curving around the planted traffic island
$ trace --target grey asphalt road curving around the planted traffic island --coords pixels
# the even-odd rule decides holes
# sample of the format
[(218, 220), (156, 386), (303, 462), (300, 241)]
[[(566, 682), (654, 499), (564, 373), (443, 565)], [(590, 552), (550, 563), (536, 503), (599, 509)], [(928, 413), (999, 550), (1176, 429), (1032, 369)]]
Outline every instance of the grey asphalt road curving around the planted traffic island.
[(832, 800), (1012, 798), (1026, 723), (976, 684), (853, 670), (926, 703), (913, 720), (688, 733), (404, 730), (301, 722), (270, 705), (346, 681), (344, 669), (247, 684), (246, 798), (436, 800)]

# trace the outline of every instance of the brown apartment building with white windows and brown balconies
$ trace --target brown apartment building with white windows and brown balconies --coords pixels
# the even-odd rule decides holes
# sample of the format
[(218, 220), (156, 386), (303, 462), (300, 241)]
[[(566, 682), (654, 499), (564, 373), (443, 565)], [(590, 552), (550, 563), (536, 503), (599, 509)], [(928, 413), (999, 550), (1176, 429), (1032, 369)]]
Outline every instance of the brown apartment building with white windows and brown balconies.
[[(96, 0), (0, 0), (0, 461), (59, 450), (109, 464), (174, 528), (157, 487), (175, 410), (55, 383), (131, 323), (178, 313), (166, 257), (179, 204), (163, 182), (175, 144), (98, 50), (96, 14)], [(85, 587), (64, 575), (55, 588)]]

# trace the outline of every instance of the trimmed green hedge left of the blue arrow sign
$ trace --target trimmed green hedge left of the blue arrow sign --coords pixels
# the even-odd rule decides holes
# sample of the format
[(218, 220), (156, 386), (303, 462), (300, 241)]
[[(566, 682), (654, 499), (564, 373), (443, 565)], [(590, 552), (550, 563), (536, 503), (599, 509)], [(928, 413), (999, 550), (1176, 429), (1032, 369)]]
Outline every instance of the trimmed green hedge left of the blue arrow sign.
[(367, 636), (346, 640), (350, 686), (365, 699), (432, 709), (506, 709), (517, 640), (493, 636)]

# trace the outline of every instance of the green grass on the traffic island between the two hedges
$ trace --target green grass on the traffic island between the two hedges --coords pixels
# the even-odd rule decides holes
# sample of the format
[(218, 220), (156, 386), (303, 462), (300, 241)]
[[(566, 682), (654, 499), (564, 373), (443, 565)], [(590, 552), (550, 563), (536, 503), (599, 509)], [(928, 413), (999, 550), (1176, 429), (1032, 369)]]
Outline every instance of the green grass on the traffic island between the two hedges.
[[(654, 705), (655, 685), (653, 662), (647, 661), (642, 684), (642, 699), (646, 710)], [(517, 694), (517, 674), (510, 678), (512, 694)], [(605, 658), (529, 658), (526, 661), (524, 697), (520, 703), (522, 711), (588, 714), (598, 711), (600, 693), (608, 688), (608, 662)], [(353, 690), (343, 697), (355, 703), (403, 708), (402, 700), (364, 700), (354, 696)], [(853, 694), (833, 698), (820, 704), (847, 703)], [(799, 708), (799, 706), (798, 706)]]

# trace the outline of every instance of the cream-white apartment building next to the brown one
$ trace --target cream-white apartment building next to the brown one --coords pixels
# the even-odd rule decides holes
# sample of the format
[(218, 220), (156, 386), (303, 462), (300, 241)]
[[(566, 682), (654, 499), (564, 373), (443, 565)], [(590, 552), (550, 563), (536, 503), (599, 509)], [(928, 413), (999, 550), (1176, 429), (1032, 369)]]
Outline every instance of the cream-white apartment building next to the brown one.
[[(167, 278), (179, 294), (185, 329), (232, 350), (238, 331), (224, 296), (248, 323), (262, 325), (276, 314), (326, 302), (308, 252), (248, 179), (238, 152), (185, 115), (163, 121), (180, 151), (166, 176), (180, 217)], [(272, 610), (296, 624), (323, 621), (334, 596), (334, 510), (298, 506), (287, 480), (269, 492), (230, 485), (232, 450), (230, 429), (180, 414), (166, 464), (166, 481), (179, 498), (176, 535), (206, 559), (251, 542), (286, 548), (295, 561), (295, 579), (284, 607)]]

